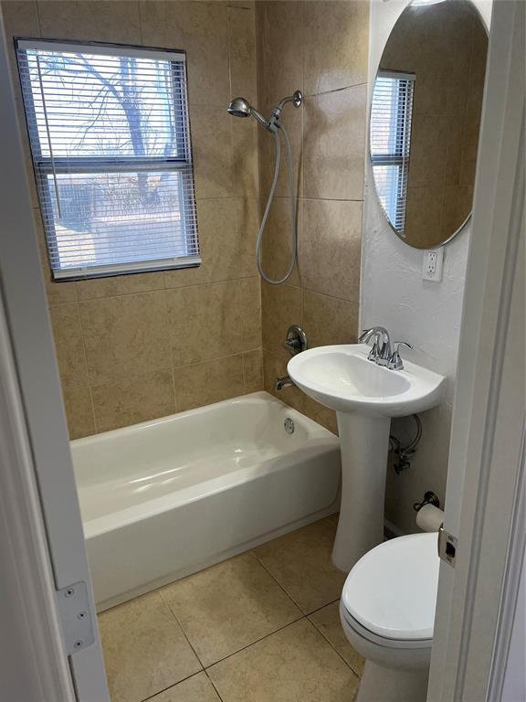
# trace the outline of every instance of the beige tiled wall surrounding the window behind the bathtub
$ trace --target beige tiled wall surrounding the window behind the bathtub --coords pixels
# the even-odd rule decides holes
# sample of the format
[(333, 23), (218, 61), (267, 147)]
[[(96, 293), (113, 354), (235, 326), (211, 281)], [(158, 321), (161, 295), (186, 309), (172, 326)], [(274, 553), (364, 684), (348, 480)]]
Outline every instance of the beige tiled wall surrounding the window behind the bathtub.
[[(6, 0), (2, 10), (9, 46), (46, 37), (188, 55), (200, 268), (51, 282), (30, 184), (71, 437), (263, 388), (257, 125), (226, 113), (233, 93), (257, 101), (253, 6)], [(25, 133), (18, 91), (16, 99)]]

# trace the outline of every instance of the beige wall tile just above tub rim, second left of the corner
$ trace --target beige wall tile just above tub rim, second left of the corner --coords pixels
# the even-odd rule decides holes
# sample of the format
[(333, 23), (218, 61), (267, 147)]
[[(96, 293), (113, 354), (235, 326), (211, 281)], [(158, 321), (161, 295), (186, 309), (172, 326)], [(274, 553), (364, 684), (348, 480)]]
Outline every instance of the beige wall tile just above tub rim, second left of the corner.
[(174, 388), (179, 411), (193, 410), (243, 395), (243, 356), (226, 356), (191, 366), (174, 367)]

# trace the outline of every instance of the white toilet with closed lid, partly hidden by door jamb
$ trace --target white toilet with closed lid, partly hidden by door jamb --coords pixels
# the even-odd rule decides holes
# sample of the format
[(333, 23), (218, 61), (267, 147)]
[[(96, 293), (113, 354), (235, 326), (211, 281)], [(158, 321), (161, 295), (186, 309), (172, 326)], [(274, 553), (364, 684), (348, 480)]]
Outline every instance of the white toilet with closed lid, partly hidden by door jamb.
[(437, 532), (385, 541), (360, 558), (340, 618), (365, 658), (356, 702), (426, 702), (437, 604)]

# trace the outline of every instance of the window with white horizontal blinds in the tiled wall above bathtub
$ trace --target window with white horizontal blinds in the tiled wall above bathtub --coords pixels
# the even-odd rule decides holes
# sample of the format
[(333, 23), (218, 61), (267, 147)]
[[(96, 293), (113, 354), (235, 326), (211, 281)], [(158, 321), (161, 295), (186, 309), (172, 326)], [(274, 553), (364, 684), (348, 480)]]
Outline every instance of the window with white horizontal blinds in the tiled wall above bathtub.
[(185, 55), (19, 39), (57, 280), (198, 265)]

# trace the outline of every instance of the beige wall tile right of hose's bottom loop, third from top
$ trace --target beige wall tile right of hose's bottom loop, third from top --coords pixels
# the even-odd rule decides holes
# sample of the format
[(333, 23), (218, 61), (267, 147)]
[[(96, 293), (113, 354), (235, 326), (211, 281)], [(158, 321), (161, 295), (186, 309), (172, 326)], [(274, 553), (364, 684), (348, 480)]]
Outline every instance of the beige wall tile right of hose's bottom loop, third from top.
[(344, 300), (360, 299), (362, 203), (303, 200), (299, 259), (305, 288)]

